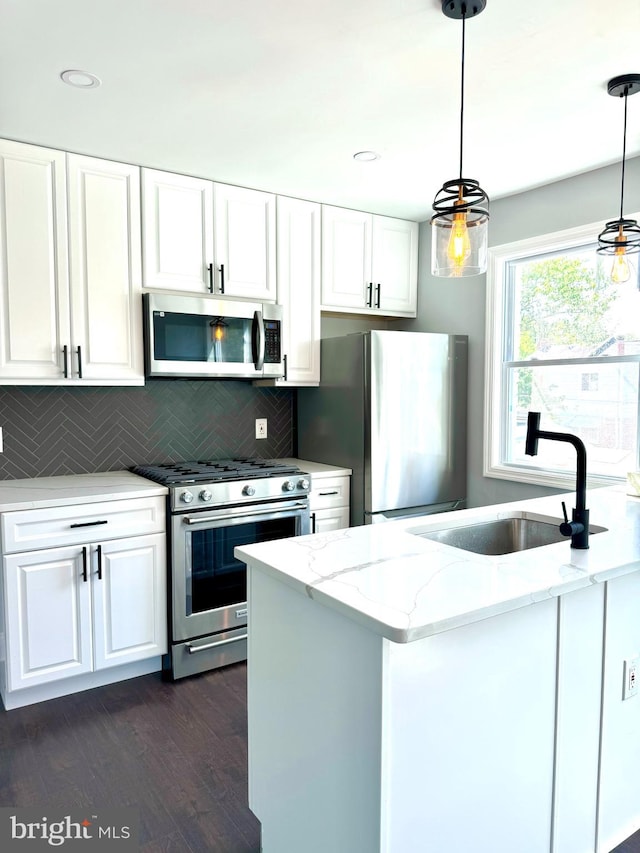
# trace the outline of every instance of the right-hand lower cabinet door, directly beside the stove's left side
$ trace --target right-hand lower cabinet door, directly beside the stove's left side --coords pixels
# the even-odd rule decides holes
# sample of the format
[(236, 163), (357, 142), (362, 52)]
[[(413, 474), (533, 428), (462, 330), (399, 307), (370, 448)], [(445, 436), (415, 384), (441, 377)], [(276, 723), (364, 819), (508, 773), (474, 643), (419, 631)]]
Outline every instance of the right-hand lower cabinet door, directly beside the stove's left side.
[(167, 651), (165, 535), (91, 546), (95, 668)]

